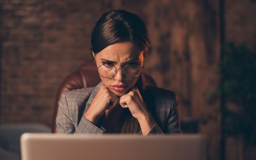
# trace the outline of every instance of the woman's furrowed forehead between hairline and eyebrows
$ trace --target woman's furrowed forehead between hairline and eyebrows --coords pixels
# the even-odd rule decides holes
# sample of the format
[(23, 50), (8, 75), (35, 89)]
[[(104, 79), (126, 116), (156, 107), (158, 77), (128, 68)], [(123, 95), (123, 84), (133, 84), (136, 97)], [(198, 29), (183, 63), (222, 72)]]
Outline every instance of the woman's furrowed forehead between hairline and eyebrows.
[(140, 58), (143, 55), (136, 45), (130, 42), (120, 42), (104, 48), (96, 54), (96, 57), (112, 61), (127, 61), (130, 59)]

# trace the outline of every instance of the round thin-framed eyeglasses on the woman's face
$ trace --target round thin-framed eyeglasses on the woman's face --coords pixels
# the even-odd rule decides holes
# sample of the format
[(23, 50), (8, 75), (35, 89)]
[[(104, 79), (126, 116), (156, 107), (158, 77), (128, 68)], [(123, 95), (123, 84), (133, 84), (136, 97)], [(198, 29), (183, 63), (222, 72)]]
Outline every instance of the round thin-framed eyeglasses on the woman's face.
[[(96, 66), (95, 60), (94, 60), (94, 63)], [(136, 62), (131, 62), (129, 64), (126, 64), (122, 68), (117, 68), (112, 64), (105, 63), (100, 65), (98, 68), (96, 66), (95, 69), (98, 71), (99, 75), (104, 78), (113, 77), (116, 74), (117, 69), (121, 69), (123, 74), (126, 75), (127, 77), (135, 78), (141, 74), (141, 71), (143, 68), (144, 68), (144, 62), (142, 67)]]

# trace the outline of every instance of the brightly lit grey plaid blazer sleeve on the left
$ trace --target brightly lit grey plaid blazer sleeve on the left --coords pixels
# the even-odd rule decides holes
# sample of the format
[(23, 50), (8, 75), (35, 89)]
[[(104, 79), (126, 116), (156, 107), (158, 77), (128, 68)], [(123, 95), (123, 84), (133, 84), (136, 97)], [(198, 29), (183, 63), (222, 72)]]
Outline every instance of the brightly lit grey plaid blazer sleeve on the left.
[(77, 122), (77, 117), (70, 115), (66, 92), (61, 94), (59, 100), (56, 125), (56, 133), (58, 134), (102, 135), (106, 131), (103, 127), (97, 127), (88, 121), (84, 116)]

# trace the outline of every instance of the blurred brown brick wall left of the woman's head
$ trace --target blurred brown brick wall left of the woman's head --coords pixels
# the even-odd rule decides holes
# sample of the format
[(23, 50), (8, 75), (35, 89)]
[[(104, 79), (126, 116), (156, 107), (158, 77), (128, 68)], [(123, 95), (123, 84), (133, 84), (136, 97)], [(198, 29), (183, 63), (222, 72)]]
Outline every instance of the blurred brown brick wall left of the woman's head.
[(90, 29), (100, 14), (100, 7), (94, 6), (101, 5), (71, 0), (4, 1), (2, 123), (51, 125), (61, 80), (90, 58)]

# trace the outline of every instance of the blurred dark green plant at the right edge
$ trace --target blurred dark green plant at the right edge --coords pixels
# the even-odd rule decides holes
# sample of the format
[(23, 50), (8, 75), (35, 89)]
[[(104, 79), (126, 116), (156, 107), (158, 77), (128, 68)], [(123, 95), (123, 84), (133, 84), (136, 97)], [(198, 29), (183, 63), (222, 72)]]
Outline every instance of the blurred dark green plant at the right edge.
[(226, 44), (219, 76), (226, 102), (238, 106), (236, 110), (224, 108), (224, 132), (243, 135), (245, 144), (251, 146), (256, 141), (256, 53), (245, 45)]

